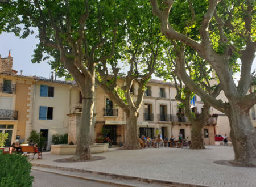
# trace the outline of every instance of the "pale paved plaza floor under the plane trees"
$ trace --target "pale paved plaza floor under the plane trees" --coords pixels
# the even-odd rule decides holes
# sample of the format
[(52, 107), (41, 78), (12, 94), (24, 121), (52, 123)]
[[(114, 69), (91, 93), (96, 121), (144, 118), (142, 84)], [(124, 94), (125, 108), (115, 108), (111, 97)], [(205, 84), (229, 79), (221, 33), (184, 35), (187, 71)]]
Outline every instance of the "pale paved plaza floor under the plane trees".
[(110, 148), (108, 152), (93, 156), (104, 156), (105, 159), (93, 162), (59, 163), (54, 160), (68, 158), (70, 155), (52, 155), (47, 152), (43, 154), (43, 159), (34, 159), (32, 163), (192, 185), (256, 186), (256, 168), (213, 163), (216, 160), (233, 159), (233, 147), (230, 146), (206, 146), (205, 150)]

